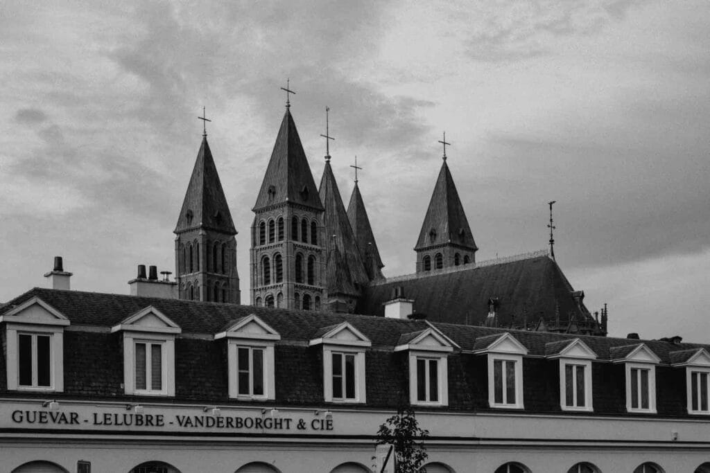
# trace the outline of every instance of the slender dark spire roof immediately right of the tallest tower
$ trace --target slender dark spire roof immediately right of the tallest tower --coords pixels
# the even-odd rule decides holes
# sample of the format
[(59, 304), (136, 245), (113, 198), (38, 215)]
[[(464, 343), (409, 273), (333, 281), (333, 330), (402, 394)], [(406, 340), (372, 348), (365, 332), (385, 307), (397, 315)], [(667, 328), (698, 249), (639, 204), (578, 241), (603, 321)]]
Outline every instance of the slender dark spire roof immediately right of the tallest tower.
[[(365, 284), (370, 279), (365, 271), (365, 265), (360, 257), (360, 252), (355, 241), (355, 235), (350, 226), (348, 215), (340, 197), (338, 184), (335, 182), (330, 161), (325, 162), (323, 177), (320, 180), (320, 200), (325, 207), (323, 225), (328, 240), (335, 240), (334, 245), (347, 263), (349, 277), (353, 283)], [(335, 238), (332, 238), (335, 237)], [(332, 245), (331, 241), (328, 242)], [(330, 284), (330, 282), (328, 283)], [(330, 287), (328, 288), (330, 291)]]

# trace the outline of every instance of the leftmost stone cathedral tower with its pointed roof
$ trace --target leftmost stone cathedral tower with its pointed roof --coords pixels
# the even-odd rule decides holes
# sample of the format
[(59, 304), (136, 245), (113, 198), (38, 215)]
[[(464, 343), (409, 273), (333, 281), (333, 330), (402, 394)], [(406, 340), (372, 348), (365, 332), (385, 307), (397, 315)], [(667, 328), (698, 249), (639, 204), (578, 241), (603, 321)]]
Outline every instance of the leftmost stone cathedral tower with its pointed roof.
[(204, 133), (175, 227), (180, 299), (241, 302), (236, 233)]

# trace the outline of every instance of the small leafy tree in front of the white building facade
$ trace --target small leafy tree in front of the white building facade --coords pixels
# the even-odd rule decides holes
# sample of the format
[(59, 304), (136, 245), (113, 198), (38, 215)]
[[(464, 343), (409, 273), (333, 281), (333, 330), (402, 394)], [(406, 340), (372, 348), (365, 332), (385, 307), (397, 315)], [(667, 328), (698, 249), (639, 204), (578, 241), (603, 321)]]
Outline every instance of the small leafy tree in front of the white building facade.
[(376, 445), (394, 445), (397, 473), (420, 473), (422, 464), (429, 457), (424, 446), (424, 439), (428, 435), (429, 430), (417, 425), (412, 406), (400, 405), (397, 413), (380, 425)]

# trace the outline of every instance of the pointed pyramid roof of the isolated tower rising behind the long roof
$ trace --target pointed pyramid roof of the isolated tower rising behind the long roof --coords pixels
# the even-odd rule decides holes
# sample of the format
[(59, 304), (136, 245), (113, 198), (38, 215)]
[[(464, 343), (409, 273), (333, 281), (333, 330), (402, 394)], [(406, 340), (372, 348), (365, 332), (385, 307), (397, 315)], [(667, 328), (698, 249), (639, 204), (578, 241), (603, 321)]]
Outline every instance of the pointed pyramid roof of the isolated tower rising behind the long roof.
[(466, 219), (464, 206), (461, 205), (454, 178), (444, 161), (414, 249), (421, 250), (447, 243), (473, 250), (479, 249), (474, 242), (474, 235)]

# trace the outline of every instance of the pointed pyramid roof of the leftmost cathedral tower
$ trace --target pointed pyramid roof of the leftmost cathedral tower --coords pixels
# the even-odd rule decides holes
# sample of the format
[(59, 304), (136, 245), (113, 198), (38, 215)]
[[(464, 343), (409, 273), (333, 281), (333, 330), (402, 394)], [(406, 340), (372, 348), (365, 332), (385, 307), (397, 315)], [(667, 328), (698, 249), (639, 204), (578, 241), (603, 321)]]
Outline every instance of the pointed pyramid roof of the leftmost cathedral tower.
[(187, 184), (175, 233), (192, 228), (209, 228), (236, 235), (206, 136), (202, 137), (200, 152), (197, 153), (195, 167), (192, 168), (190, 184)]

